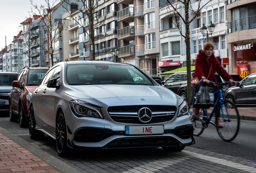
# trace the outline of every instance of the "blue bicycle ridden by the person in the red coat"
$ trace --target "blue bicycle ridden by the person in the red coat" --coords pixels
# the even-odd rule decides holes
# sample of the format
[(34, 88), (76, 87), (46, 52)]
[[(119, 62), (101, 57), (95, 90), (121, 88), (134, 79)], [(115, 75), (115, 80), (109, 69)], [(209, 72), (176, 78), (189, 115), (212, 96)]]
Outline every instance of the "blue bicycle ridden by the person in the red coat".
[[(213, 106), (212, 112), (210, 116), (208, 115), (207, 109), (200, 109), (200, 118), (199, 120), (194, 120), (194, 117), (191, 115), (192, 125), (194, 127), (193, 134), (195, 136), (199, 136), (202, 134), (205, 128), (208, 127), (209, 124), (212, 124), (216, 127), (217, 132), (221, 139), (224, 141), (230, 142), (237, 136), (240, 126), (239, 112), (235, 104), (229, 100), (223, 99), (222, 87), (227, 86), (235, 86), (235, 84), (231, 84), (229, 82), (219, 83), (219, 82), (210, 82), (210, 84), (214, 86), (221, 86), (220, 89), (215, 91), (215, 93), (219, 93), (219, 96)], [(223, 109), (224, 108), (224, 109)], [(216, 113), (215, 113), (216, 112)], [(215, 122), (217, 122), (217, 118), (220, 117), (220, 120), (223, 123), (223, 128), (219, 128), (215, 122), (211, 121), (213, 114), (215, 115)], [(221, 114), (221, 115), (219, 115)]]

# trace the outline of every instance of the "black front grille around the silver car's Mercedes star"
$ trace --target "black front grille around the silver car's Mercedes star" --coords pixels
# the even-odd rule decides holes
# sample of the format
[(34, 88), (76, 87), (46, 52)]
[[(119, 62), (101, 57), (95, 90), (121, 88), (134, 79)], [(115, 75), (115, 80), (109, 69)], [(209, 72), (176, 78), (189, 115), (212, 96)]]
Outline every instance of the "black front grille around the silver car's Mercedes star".
[[(138, 111), (143, 107), (150, 109), (152, 112), (152, 119), (147, 123), (142, 123), (138, 120)], [(163, 123), (173, 119), (176, 113), (176, 107), (166, 105), (116, 106), (109, 107), (107, 112), (111, 119), (118, 123), (152, 124)]]

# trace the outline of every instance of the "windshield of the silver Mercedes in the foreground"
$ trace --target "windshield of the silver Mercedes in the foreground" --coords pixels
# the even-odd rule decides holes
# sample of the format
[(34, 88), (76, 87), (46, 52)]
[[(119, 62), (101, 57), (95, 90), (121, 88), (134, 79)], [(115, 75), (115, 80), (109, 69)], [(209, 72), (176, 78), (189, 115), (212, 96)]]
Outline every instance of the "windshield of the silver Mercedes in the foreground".
[(68, 65), (67, 82), (70, 85), (84, 84), (140, 84), (153, 85), (134, 66), (120, 64), (75, 64)]

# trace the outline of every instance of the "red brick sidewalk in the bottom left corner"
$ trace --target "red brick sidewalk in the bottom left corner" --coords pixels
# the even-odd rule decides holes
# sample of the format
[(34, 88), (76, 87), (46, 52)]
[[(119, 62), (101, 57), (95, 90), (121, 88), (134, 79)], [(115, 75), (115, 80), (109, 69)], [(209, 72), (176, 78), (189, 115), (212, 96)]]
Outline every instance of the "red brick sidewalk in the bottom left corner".
[(0, 133), (0, 173), (60, 173)]

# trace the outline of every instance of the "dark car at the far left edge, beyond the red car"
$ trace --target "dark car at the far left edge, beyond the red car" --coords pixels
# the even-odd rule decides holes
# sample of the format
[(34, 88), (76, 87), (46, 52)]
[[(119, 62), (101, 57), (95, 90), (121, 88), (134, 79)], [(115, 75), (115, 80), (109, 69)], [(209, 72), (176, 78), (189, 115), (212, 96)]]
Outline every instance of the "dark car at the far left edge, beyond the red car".
[(12, 81), (17, 80), (17, 72), (0, 72), (0, 111), (9, 110), (9, 95), (12, 91)]

